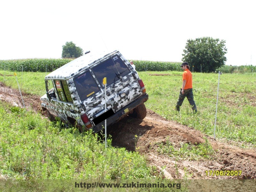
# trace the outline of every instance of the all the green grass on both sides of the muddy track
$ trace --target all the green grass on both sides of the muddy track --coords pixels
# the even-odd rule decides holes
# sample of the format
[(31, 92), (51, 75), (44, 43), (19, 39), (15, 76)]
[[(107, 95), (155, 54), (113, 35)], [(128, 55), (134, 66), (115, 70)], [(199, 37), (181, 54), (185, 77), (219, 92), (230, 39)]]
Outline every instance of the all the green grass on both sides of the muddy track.
[[(0, 71), (0, 74), (0, 81), (6, 86), (18, 88), (15, 76), (10, 76), (13, 72)], [(45, 75), (18, 72), (21, 90), (43, 95)], [(218, 74), (193, 73), (197, 114), (192, 113), (186, 99), (180, 113), (174, 110), (182, 72), (148, 71), (139, 75), (149, 94), (145, 103), (148, 109), (213, 136)], [(217, 138), (231, 140), (240, 147), (256, 146), (255, 77), (256, 73), (220, 76)], [(72, 127), (61, 129), (60, 122), (49, 123), (39, 114), (4, 102), (0, 103), (0, 118), (0, 176), (4, 178), (151, 179), (159, 176), (154, 167), (147, 167), (144, 156), (111, 147), (111, 138), (105, 150), (97, 135), (81, 134)]]

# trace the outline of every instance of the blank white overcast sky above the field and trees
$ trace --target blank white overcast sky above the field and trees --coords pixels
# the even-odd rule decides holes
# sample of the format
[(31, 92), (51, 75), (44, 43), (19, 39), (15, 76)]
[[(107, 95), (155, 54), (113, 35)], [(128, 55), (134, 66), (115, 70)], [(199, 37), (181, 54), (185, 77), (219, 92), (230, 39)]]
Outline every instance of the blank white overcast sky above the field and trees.
[[(3, 0), (0, 60), (119, 50), (128, 60), (180, 61), (188, 39), (226, 41), (227, 65), (256, 65), (252, 0)], [(254, 19), (253, 19), (254, 18)]]

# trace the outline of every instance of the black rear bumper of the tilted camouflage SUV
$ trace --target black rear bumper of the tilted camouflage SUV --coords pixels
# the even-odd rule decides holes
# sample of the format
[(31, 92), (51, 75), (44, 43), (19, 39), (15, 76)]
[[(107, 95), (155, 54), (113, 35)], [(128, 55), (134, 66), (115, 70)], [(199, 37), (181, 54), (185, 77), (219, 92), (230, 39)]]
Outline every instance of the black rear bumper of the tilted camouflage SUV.
[[(107, 126), (116, 123), (123, 116), (126, 116), (127, 114), (129, 114), (129, 111), (132, 111), (134, 108), (136, 108), (137, 106), (139, 106), (140, 104), (144, 103), (147, 100), (148, 100), (148, 94), (144, 93), (138, 99), (136, 99), (135, 101), (131, 102), (129, 105), (125, 106), (124, 108), (122, 108), (121, 110), (116, 112), (111, 117), (107, 118)], [(99, 132), (100, 130), (102, 130), (104, 127), (105, 127), (105, 120), (100, 122), (99, 124), (95, 125), (92, 128), (92, 131), (96, 133), (96, 132)]]

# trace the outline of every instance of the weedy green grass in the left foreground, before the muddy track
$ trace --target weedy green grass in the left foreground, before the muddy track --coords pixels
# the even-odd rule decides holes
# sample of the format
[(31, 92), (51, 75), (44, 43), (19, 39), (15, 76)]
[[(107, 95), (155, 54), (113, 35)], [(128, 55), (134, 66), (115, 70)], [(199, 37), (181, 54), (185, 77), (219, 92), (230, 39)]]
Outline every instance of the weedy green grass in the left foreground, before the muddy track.
[[(0, 179), (152, 179), (137, 152), (0, 102)], [(154, 170), (154, 169), (153, 169)]]

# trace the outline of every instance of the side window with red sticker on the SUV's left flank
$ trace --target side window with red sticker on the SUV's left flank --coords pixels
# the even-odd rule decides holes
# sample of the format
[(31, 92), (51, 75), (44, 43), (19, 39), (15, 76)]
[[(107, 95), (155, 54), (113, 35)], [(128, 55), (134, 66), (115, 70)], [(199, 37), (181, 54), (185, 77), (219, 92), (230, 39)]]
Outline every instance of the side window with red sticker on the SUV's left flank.
[(55, 83), (60, 100), (72, 103), (72, 98), (68, 89), (67, 81), (54, 80), (54, 83)]

